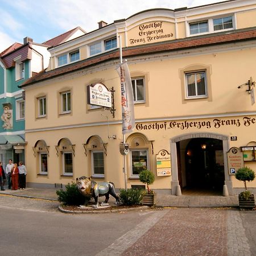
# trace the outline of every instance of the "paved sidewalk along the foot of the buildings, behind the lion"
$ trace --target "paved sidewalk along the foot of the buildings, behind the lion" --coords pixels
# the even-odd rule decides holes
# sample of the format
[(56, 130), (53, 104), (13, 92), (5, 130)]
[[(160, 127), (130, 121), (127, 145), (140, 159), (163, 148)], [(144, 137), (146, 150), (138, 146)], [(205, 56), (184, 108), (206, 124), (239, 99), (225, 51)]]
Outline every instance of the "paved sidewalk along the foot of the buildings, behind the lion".
[[(56, 201), (56, 190), (52, 188), (26, 188), (16, 191), (6, 189), (5, 191), (0, 191), (0, 194)], [(115, 199), (110, 196), (109, 201), (114, 203)], [(172, 196), (156, 194), (155, 205), (156, 207), (180, 208), (238, 207), (238, 196)]]

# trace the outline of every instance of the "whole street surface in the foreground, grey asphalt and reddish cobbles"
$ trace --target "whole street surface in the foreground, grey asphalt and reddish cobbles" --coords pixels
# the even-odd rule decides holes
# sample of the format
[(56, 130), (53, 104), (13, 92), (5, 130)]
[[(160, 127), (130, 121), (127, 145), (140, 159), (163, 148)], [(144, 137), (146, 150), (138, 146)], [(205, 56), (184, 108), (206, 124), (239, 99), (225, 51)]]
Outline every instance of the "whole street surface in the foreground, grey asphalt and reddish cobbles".
[(1, 255), (256, 255), (255, 211), (64, 214), (58, 205), (0, 195)]

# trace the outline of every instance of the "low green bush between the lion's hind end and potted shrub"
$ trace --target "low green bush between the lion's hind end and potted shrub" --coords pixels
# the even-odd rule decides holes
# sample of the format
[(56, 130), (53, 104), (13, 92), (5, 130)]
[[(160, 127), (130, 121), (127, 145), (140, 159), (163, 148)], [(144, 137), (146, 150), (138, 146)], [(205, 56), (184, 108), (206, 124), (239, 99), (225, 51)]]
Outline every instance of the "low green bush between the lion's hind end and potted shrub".
[(140, 205), (142, 202), (142, 189), (128, 188), (120, 189), (119, 198), (121, 202), (125, 205)]

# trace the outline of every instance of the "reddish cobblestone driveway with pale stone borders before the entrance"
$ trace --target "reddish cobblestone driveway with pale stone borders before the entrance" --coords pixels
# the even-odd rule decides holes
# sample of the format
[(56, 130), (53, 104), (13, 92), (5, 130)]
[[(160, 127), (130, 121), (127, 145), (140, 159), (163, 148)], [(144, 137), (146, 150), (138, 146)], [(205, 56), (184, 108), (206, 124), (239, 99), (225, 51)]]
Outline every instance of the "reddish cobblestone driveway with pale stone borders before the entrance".
[(239, 210), (177, 208), (151, 216), (97, 256), (250, 256), (255, 250), (254, 243), (249, 246)]

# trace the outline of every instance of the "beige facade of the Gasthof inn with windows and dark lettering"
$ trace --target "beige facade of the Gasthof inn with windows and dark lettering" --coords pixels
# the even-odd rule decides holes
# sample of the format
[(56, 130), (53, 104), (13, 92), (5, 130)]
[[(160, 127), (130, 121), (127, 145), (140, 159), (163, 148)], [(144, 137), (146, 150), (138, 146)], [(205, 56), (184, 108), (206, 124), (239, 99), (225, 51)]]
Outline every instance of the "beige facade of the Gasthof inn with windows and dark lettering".
[[(227, 152), (256, 146), (256, 105), (246, 91), (256, 76), (255, 12), (256, 1), (239, 0), (149, 10), (50, 48), (47, 71), (23, 85), (28, 183), (67, 184), (85, 175), (124, 188), (125, 182), (142, 185), (139, 170), (148, 168), (156, 176), (151, 187), (159, 191), (226, 184), (236, 193), (243, 184), (234, 179)], [(135, 98), (126, 181), (115, 71), (119, 35)], [(87, 86), (99, 82), (114, 89), (114, 117), (87, 104)], [(171, 175), (158, 176), (161, 150), (171, 154)], [(246, 160), (255, 170), (255, 162)], [(249, 187), (256, 188), (256, 181)]]

